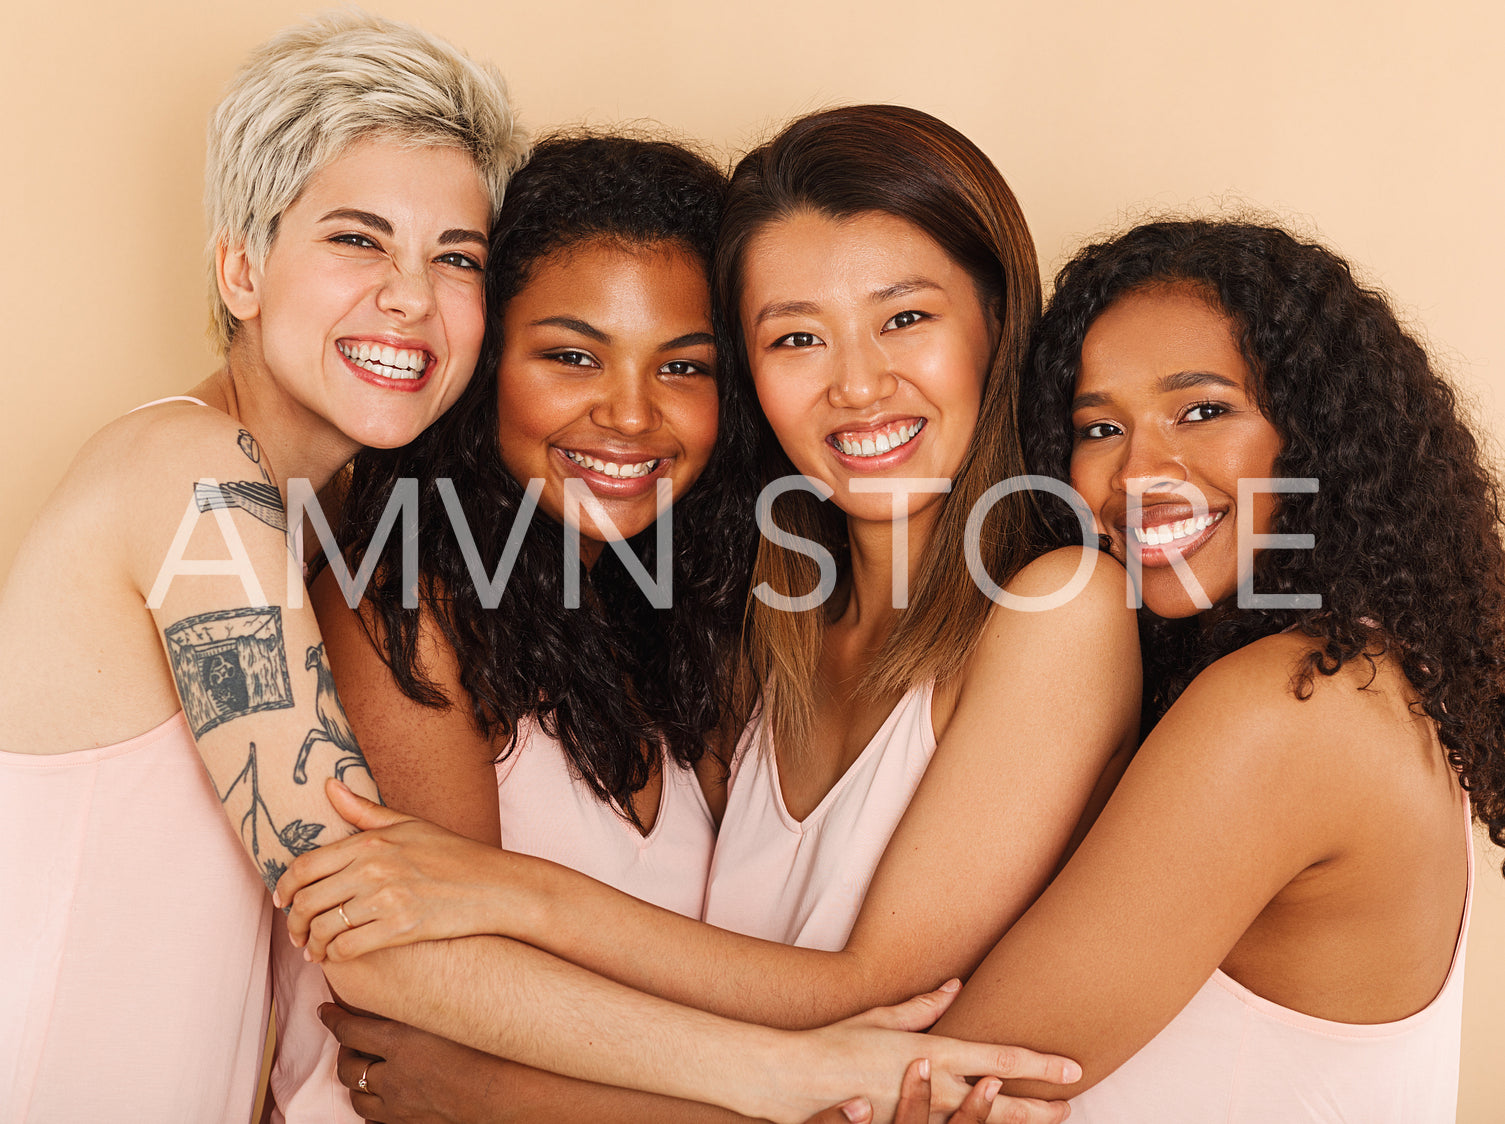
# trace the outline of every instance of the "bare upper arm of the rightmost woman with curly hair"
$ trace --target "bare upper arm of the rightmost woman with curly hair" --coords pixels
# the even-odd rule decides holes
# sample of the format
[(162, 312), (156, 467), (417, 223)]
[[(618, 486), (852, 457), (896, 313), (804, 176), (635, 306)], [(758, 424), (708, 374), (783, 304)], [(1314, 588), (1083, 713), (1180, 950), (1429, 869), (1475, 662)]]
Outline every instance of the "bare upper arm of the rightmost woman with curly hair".
[(1246, 649), (1186, 691), (938, 1029), (1067, 1053), (1079, 1092), (1186, 1005), (1291, 879), (1345, 856), (1373, 811), (1338, 733), (1359, 692), (1303, 703), (1288, 676), (1288, 658)]

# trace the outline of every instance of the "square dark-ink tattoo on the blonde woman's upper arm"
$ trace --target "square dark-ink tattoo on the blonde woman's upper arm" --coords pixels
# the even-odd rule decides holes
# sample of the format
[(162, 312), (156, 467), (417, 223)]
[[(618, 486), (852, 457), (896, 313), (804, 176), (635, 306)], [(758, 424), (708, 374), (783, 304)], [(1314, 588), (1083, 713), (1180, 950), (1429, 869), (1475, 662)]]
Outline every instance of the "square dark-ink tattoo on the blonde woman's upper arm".
[(194, 739), (232, 718), (292, 706), (275, 605), (185, 617), (163, 635)]

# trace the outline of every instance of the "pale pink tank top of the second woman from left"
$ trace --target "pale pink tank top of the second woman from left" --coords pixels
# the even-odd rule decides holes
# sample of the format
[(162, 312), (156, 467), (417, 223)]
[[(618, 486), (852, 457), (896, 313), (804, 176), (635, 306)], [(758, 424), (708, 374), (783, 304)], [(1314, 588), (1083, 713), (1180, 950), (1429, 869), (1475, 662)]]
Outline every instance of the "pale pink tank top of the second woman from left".
[[(641, 835), (570, 773), (560, 743), (528, 721), (519, 727), (516, 748), (497, 764), (497, 796), (507, 850), (551, 859), (643, 901), (700, 916), (716, 826), (692, 770), (665, 758), (658, 817)], [(274, 1119), (358, 1124), (349, 1092), (334, 1074), (339, 1043), (318, 1017), (319, 1004), (330, 1001), (324, 972), (287, 943), (281, 924), (277, 936), (280, 1046), (272, 1097), (280, 1110)]]

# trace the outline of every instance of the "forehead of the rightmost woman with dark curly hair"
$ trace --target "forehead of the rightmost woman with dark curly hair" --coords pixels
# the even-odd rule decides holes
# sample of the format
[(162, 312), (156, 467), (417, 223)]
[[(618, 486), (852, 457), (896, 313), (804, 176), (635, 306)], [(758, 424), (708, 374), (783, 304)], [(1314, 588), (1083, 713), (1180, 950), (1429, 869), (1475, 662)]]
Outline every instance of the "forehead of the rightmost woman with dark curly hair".
[(1112, 394), (1198, 372), (1252, 390), (1233, 320), (1198, 289), (1166, 284), (1118, 298), (1093, 322), (1082, 340), (1076, 388)]

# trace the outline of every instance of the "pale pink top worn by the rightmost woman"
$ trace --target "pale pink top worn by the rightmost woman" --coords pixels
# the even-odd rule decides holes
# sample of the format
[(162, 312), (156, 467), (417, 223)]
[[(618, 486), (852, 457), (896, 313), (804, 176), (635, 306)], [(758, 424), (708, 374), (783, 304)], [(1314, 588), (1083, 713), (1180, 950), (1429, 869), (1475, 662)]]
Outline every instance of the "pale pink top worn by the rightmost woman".
[(1261, 999), (1225, 972), (1133, 1058), (1072, 1100), (1073, 1124), (1452, 1124), (1469, 889), (1437, 996), (1392, 1023), (1336, 1023)]

